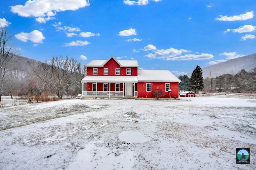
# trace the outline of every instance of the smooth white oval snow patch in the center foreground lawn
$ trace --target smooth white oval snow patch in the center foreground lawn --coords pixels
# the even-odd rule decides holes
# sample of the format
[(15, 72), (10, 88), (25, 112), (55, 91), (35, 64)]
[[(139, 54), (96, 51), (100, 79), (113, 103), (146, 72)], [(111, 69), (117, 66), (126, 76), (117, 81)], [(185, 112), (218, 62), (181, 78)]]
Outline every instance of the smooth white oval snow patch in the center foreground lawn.
[(148, 139), (144, 137), (142, 133), (135, 131), (122, 131), (119, 134), (119, 140), (126, 143), (144, 143), (148, 141)]

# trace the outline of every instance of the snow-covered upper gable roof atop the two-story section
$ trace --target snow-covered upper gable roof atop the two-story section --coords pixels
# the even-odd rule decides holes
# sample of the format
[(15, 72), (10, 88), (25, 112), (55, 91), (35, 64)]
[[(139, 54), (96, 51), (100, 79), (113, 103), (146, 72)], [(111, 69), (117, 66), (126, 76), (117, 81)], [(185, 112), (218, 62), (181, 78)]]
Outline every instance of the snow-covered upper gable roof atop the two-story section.
[(85, 66), (87, 67), (104, 67), (110, 59), (114, 59), (120, 67), (139, 67), (137, 60), (116, 60), (113, 56), (111, 56), (108, 60), (92, 60)]

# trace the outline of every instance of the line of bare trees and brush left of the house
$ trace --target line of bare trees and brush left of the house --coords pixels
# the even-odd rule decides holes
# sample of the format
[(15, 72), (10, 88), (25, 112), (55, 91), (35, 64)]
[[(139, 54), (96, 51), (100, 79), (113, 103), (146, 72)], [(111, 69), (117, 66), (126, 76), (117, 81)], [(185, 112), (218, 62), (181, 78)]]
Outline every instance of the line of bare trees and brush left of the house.
[[(68, 57), (52, 57), (50, 61), (28, 61), (25, 70), (16, 67), (21, 60), (12, 47), (7, 27), (0, 26), (0, 102), (3, 95), (27, 96), (35, 100), (58, 100), (64, 95), (81, 92), (86, 68)], [(54, 96), (54, 97), (52, 97)]]

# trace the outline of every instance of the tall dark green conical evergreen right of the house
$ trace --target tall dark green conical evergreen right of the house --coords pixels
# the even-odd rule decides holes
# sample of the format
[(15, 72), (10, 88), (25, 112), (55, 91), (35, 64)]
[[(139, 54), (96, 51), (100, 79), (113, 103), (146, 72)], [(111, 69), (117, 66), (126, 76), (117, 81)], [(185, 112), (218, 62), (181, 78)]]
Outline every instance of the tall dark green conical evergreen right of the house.
[(189, 87), (196, 94), (198, 91), (204, 89), (204, 79), (203, 79), (203, 70), (200, 66), (196, 66), (192, 75), (189, 79)]

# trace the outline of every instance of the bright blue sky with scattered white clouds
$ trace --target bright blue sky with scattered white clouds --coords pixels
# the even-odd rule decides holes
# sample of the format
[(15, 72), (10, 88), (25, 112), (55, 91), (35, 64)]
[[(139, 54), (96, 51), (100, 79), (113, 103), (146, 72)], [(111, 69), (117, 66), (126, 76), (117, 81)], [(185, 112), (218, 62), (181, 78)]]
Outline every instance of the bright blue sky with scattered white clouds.
[(176, 76), (256, 53), (255, 0), (0, 0), (24, 57), (137, 60)]

